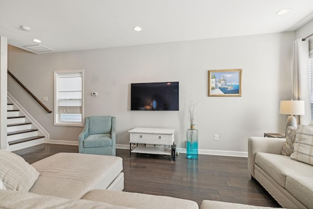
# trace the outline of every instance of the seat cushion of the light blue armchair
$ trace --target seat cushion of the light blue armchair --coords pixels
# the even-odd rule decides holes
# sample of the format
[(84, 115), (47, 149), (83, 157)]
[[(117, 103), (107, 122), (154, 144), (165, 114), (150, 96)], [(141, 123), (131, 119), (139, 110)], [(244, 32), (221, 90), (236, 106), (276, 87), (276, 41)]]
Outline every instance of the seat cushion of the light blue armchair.
[(84, 148), (112, 146), (111, 134), (89, 135), (84, 140)]

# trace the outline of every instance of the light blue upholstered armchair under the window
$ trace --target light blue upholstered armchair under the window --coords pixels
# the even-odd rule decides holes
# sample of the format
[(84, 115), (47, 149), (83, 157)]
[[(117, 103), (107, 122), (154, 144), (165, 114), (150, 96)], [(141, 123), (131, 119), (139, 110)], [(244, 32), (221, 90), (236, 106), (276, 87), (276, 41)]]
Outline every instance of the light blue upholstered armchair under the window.
[(86, 117), (84, 130), (78, 136), (78, 143), (79, 153), (115, 156), (115, 117)]

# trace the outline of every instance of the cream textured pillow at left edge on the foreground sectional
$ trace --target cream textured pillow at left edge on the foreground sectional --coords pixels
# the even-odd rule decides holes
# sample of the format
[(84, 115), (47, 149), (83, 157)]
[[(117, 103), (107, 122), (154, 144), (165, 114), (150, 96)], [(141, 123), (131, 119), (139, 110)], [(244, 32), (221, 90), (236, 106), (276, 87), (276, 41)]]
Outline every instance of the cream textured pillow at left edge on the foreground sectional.
[(22, 157), (0, 150), (0, 179), (6, 189), (28, 191), (39, 172)]

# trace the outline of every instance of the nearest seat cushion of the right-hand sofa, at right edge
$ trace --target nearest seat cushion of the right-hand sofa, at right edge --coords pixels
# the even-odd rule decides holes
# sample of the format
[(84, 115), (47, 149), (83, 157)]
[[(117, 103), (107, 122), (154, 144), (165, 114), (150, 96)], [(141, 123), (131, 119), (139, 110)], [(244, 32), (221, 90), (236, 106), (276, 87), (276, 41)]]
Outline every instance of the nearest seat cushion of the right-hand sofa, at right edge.
[(313, 177), (287, 176), (286, 189), (306, 207), (313, 206)]

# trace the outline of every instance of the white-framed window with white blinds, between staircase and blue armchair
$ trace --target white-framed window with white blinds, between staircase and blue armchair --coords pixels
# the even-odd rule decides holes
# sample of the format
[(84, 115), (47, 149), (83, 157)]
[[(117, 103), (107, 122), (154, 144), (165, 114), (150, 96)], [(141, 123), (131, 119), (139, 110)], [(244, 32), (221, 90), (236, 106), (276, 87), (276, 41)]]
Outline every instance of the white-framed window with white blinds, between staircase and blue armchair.
[(83, 70), (54, 72), (54, 125), (83, 125)]

